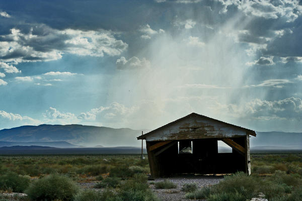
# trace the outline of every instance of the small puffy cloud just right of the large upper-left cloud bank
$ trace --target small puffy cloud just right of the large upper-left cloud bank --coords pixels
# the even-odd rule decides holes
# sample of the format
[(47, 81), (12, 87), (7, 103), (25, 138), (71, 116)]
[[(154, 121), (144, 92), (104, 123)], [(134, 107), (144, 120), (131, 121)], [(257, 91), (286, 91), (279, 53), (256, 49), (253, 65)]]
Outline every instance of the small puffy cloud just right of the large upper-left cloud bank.
[(125, 57), (121, 57), (116, 60), (116, 67), (117, 69), (137, 69), (143, 67), (149, 67), (150, 62), (145, 58), (141, 60), (137, 57), (131, 57), (129, 60), (126, 60)]

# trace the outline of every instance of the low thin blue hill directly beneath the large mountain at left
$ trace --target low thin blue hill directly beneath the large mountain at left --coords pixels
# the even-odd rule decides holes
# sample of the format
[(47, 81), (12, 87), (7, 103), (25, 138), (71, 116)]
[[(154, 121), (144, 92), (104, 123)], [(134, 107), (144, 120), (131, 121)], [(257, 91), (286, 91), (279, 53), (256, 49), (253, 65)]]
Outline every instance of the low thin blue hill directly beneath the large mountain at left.
[(58, 141), (58, 142), (7, 142), (0, 141), (0, 147), (5, 146), (46, 146), (46, 147), (56, 147), (56, 148), (75, 148), (78, 145), (73, 145), (68, 142)]

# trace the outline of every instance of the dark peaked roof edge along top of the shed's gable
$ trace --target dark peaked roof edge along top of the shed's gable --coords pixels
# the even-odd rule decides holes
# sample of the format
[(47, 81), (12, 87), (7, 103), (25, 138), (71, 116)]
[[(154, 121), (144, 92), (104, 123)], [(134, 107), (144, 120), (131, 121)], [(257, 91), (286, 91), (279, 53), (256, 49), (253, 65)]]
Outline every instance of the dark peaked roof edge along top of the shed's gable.
[(155, 130), (153, 130), (153, 131), (150, 131), (150, 132), (148, 132), (148, 133), (146, 133), (146, 134), (144, 134), (144, 135), (138, 136), (138, 137), (137, 137), (137, 140), (143, 140), (143, 139), (145, 139), (146, 137), (148, 137), (148, 136), (150, 136), (150, 135), (152, 135), (152, 134), (158, 132), (159, 130), (168, 128), (169, 126), (172, 126), (172, 125), (174, 125), (174, 124), (176, 124), (176, 123), (178, 123), (178, 122), (180, 122), (180, 121), (182, 121), (182, 120), (184, 120), (184, 119), (190, 118), (190, 117), (200, 117), (200, 118), (203, 118), (203, 119), (207, 119), (207, 120), (210, 120), (210, 121), (217, 122), (217, 123), (219, 123), (219, 124), (223, 124), (223, 125), (225, 125), (225, 126), (231, 126), (231, 127), (237, 128), (237, 129), (243, 129), (243, 130), (246, 131), (247, 134), (256, 137), (256, 132), (253, 131), (253, 130), (246, 129), (246, 128), (243, 128), (243, 127), (240, 127), (240, 126), (236, 126), (236, 125), (233, 125), (233, 124), (225, 123), (225, 122), (222, 122), (222, 121), (219, 121), (219, 120), (216, 120), (216, 119), (212, 119), (212, 118), (209, 118), (209, 117), (206, 117), (206, 116), (203, 116), (203, 115), (199, 115), (199, 114), (197, 114), (197, 113), (191, 113), (190, 115), (187, 115), (187, 116), (182, 117), (182, 118), (180, 118), (180, 119), (178, 119), (178, 120), (175, 120), (174, 122), (171, 122), (171, 123), (169, 123), (169, 124), (166, 124), (166, 125), (164, 125), (164, 126), (158, 128), (158, 129), (155, 129)]

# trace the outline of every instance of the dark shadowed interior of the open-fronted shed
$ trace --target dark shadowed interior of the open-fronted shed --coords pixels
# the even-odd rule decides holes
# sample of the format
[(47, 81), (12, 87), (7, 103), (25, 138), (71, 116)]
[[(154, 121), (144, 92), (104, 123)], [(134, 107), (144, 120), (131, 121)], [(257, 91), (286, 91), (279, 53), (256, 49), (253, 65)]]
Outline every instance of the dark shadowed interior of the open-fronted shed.
[[(245, 147), (245, 137), (231, 138)], [(246, 171), (245, 155), (236, 149), (218, 153), (217, 138), (172, 141), (148, 154), (155, 177), (175, 174), (221, 174)], [(147, 142), (147, 146), (158, 143)], [(185, 153), (182, 150), (185, 149)], [(190, 153), (191, 152), (191, 153)]]

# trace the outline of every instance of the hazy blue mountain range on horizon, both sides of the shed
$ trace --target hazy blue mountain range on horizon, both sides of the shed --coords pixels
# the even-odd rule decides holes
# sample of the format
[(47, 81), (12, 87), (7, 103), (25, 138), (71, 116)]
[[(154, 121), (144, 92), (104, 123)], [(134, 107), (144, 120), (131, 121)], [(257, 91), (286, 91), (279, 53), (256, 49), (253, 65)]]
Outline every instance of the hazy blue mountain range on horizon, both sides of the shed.
[[(145, 133), (146, 131), (144, 131)], [(302, 150), (302, 133), (256, 132), (252, 149)], [(21, 126), (0, 130), (0, 147), (48, 146), (57, 148), (141, 146), (141, 130), (84, 125)]]

